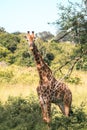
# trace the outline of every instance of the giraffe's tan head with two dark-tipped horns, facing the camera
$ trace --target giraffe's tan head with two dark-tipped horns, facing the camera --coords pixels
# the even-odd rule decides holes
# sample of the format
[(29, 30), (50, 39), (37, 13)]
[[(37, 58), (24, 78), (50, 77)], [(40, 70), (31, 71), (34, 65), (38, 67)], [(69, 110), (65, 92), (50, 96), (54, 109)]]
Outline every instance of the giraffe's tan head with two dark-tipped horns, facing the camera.
[(30, 46), (30, 49), (33, 49), (34, 40), (35, 40), (34, 31), (32, 31), (31, 34), (30, 34), (30, 31), (27, 31), (26, 38), (27, 38), (28, 44)]

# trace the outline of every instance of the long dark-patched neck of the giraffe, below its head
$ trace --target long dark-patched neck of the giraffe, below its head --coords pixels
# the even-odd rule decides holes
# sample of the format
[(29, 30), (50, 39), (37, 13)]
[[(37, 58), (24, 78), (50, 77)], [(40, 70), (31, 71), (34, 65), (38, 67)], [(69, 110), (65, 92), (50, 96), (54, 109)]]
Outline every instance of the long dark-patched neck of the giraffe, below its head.
[(47, 83), (52, 78), (52, 71), (48, 67), (48, 65), (44, 62), (40, 52), (37, 49), (37, 46), (34, 43), (33, 43), (32, 53), (36, 61), (37, 70), (40, 77), (40, 83), (41, 84)]

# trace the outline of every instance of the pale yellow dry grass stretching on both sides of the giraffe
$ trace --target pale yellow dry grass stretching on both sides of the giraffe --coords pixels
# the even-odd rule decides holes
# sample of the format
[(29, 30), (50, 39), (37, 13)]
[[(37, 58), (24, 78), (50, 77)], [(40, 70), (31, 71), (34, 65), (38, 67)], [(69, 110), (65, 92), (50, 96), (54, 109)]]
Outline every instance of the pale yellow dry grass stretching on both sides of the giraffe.
[[(4, 69), (1, 68), (1, 71)], [(0, 84), (0, 100), (5, 102), (9, 96), (29, 96), (31, 93), (37, 95), (36, 87), (38, 86), (38, 74), (35, 68), (19, 68), (11, 66), (5, 69), (7, 71), (13, 71), (14, 76), (8, 81), (4, 81)], [(17, 74), (17, 75), (16, 75)], [(70, 84), (69, 88), (73, 94), (73, 105), (79, 106), (81, 102), (87, 102), (87, 72), (75, 71), (73, 76), (77, 76), (81, 79), (80, 84)]]

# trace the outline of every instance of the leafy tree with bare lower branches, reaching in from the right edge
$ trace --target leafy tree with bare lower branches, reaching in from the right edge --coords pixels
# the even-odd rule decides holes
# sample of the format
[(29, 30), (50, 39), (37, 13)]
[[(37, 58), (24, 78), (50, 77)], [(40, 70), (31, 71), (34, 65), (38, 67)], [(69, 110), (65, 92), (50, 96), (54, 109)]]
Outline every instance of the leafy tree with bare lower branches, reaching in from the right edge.
[[(87, 0), (86, 0), (87, 1)], [(57, 4), (58, 19), (53, 23), (56, 24), (58, 32), (64, 32), (56, 37), (56, 41), (62, 38), (74, 41), (78, 49), (70, 56), (70, 60), (66, 61), (57, 70), (62, 70), (67, 64), (71, 64), (67, 77), (72, 73), (73, 68), (87, 70), (87, 14), (86, 8), (79, 3), (72, 3), (68, 0), (68, 5)]]

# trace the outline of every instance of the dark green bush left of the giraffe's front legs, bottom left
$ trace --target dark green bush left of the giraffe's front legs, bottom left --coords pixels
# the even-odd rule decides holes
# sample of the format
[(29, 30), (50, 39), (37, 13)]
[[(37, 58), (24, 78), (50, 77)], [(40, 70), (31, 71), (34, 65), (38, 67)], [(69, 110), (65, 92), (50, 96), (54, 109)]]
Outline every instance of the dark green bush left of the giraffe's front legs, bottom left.
[(9, 97), (4, 106), (0, 105), (0, 130), (3, 127), (6, 127), (6, 130), (35, 130), (37, 124), (42, 121), (40, 115), (40, 107), (33, 97)]

